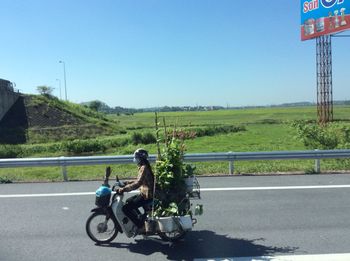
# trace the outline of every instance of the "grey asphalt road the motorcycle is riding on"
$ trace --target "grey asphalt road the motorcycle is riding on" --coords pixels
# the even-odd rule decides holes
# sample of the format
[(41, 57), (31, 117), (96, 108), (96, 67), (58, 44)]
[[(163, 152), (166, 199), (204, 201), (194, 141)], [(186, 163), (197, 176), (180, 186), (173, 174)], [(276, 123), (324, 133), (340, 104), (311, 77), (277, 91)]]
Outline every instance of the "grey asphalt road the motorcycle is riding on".
[(232, 258), (350, 253), (350, 174), (199, 182), (204, 215), (184, 241), (172, 246), (123, 234), (110, 245), (95, 245), (84, 226), (100, 182), (1, 184), (0, 260), (238, 260)]

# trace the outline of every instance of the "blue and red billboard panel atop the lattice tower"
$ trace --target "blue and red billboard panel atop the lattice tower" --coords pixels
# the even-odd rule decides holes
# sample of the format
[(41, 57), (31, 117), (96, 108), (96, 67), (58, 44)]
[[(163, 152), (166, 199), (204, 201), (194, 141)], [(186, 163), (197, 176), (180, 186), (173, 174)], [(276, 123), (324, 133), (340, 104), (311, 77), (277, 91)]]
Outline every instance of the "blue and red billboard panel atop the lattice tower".
[(350, 0), (301, 0), (301, 40), (350, 29)]

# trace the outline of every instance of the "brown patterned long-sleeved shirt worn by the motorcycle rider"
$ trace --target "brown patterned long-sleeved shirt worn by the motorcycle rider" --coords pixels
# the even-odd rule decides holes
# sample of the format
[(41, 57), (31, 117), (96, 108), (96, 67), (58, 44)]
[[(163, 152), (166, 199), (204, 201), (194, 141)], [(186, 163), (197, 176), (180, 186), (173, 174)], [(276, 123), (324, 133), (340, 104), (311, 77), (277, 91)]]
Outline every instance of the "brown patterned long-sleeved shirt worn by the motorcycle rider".
[(140, 194), (145, 199), (150, 199), (153, 197), (153, 184), (154, 177), (151, 169), (146, 165), (142, 165), (139, 167), (137, 179), (134, 182), (126, 185), (123, 190), (129, 192), (140, 188)]

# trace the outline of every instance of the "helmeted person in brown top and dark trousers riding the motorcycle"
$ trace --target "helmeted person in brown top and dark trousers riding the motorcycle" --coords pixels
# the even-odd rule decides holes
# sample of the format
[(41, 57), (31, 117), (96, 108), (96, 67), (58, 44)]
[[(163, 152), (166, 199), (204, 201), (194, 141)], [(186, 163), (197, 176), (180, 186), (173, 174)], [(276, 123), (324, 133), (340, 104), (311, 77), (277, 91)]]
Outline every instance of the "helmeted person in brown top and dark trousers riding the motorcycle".
[(140, 213), (138, 208), (151, 202), (153, 199), (154, 174), (147, 158), (148, 152), (144, 149), (137, 149), (134, 152), (134, 162), (137, 164), (139, 171), (137, 179), (127, 182), (125, 187), (118, 189), (118, 193), (123, 193), (140, 188), (140, 194), (128, 198), (123, 206), (125, 215), (138, 228), (142, 228), (144, 225), (144, 221), (138, 218), (138, 213)]

